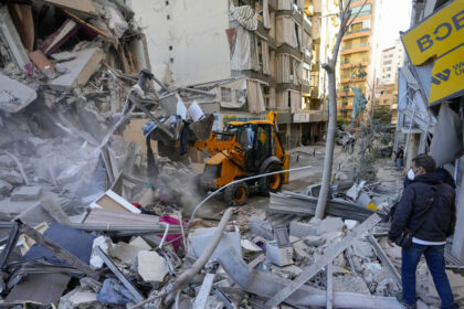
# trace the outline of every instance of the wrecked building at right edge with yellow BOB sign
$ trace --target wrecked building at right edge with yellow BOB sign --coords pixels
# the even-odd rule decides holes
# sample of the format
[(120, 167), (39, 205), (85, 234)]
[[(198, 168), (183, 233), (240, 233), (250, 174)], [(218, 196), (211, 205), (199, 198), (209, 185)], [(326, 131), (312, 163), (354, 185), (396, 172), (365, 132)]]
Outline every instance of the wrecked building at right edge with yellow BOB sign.
[[(411, 29), (401, 34), (405, 61), (398, 75), (398, 124), (394, 147), (404, 147), (404, 168), (418, 153), (432, 154), (456, 182), (457, 223), (449, 243), (464, 262), (464, 162), (462, 70), (464, 11), (462, 1), (413, 1)], [(443, 40), (439, 28), (450, 26)], [(428, 33), (429, 29), (435, 34)], [(433, 40), (426, 45), (423, 38)], [(421, 39), (422, 38), (422, 39)], [(431, 56), (433, 54), (433, 56)]]

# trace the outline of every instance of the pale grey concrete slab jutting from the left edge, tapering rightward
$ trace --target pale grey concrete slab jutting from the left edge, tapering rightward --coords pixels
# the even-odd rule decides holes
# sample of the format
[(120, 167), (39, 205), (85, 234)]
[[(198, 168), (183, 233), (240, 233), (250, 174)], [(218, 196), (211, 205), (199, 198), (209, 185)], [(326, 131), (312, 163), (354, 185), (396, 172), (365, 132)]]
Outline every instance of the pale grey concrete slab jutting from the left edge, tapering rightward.
[(38, 94), (31, 87), (0, 74), (0, 109), (14, 114), (36, 97)]

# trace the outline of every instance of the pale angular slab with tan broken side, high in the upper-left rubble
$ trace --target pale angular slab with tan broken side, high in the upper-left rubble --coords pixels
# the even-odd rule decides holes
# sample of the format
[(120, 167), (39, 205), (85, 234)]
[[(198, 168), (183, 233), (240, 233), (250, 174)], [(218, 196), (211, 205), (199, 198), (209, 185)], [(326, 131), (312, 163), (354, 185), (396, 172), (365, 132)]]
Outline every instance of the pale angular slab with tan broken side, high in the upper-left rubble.
[(104, 53), (99, 47), (91, 47), (78, 52), (63, 52), (52, 54), (54, 60), (68, 60), (61, 65), (70, 72), (50, 82), (50, 87), (54, 90), (71, 90), (72, 88), (84, 86), (88, 78), (99, 68), (104, 58)]

